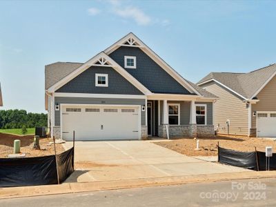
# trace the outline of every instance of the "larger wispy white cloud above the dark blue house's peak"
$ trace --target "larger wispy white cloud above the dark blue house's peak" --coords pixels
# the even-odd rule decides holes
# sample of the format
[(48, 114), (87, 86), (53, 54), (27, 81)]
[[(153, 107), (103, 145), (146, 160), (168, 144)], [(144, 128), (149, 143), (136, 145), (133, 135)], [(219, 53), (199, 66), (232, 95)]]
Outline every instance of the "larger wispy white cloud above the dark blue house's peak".
[(141, 26), (147, 26), (152, 22), (152, 19), (147, 14), (134, 6), (127, 6), (126, 8), (115, 7), (114, 13), (125, 19), (133, 19)]

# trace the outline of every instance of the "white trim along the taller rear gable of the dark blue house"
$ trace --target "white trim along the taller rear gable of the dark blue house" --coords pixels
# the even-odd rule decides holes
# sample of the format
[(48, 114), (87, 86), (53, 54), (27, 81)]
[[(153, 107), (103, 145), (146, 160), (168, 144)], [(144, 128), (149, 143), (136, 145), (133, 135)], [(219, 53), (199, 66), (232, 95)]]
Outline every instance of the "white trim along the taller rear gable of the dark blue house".
[(114, 43), (112, 46), (104, 50), (107, 55), (117, 50), (117, 48), (121, 46), (128, 47), (137, 47), (140, 48), (143, 52), (148, 55), (153, 61), (155, 61), (161, 68), (163, 68), (168, 74), (174, 78), (177, 82), (181, 84), (184, 88), (186, 88), (189, 92), (195, 93), (199, 96), (202, 96), (193, 86), (188, 83), (181, 75), (179, 75), (174, 69), (172, 69), (168, 63), (166, 63), (163, 59), (161, 59), (155, 52), (153, 52), (145, 43), (143, 43), (138, 37), (135, 36), (132, 32), (127, 34), (125, 37)]

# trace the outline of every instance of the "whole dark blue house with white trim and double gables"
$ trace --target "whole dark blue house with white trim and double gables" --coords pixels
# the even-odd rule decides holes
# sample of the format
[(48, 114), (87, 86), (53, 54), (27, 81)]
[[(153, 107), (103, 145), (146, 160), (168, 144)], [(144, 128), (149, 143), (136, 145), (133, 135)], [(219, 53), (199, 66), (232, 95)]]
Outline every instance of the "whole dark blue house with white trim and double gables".
[[(45, 67), (51, 134), (72, 140), (213, 135), (216, 97), (186, 81), (135, 34), (85, 63)], [(198, 124), (198, 125), (197, 125)]]

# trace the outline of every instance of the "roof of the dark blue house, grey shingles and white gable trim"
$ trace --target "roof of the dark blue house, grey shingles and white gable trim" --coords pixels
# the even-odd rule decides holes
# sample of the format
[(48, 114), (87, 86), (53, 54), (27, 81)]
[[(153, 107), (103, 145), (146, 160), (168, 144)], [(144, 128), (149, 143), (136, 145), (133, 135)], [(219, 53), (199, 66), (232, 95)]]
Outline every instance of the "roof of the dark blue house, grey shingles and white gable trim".
[[(100, 52), (95, 57), (92, 57), (86, 63), (64, 63), (57, 62), (52, 63), (45, 67), (45, 88), (48, 92), (55, 92), (58, 88), (63, 86), (65, 83), (79, 75), (84, 70), (90, 68), (90, 66), (99, 66), (99, 59), (104, 59), (104, 66), (109, 63), (108, 66), (112, 66), (117, 72), (119, 72), (123, 77), (128, 79), (130, 83), (136, 86), (141, 92), (144, 92), (145, 95), (151, 94), (150, 90), (142, 85), (135, 77), (130, 75), (124, 68), (121, 68), (117, 62), (115, 62), (108, 55), (119, 48), (120, 46), (129, 46), (129, 47), (137, 47), (143, 50), (150, 58), (153, 59), (161, 68), (163, 68), (168, 74), (173, 77), (176, 81), (178, 81), (184, 88), (189, 90), (194, 95), (204, 96), (208, 95), (208, 97), (212, 97), (210, 93), (202, 90), (201, 88), (195, 86), (195, 84), (187, 81), (181, 75), (179, 75), (175, 70), (173, 70), (168, 64), (161, 59), (158, 55), (155, 54), (148, 46), (146, 46), (138, 37), (135, 36), (132, 32), (127, 34), (125, 37), (117, 41), (115, 44)], [(213, 95), (213, 97), (215, 97)]]

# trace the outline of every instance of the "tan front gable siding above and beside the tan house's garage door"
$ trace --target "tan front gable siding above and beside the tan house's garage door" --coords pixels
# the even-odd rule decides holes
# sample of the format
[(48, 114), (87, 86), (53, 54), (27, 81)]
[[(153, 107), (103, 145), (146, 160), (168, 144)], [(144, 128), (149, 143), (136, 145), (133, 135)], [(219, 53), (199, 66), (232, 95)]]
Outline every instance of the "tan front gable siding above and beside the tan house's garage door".
[(256, 128), (256, 117), (254, 111), (276, 111), (276, 77), (273, 77), (266, 86), (257, 94), (259, 102), (252, 104), (252, 128)]

